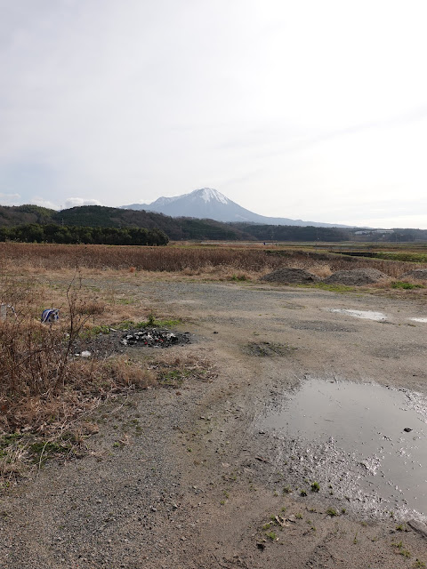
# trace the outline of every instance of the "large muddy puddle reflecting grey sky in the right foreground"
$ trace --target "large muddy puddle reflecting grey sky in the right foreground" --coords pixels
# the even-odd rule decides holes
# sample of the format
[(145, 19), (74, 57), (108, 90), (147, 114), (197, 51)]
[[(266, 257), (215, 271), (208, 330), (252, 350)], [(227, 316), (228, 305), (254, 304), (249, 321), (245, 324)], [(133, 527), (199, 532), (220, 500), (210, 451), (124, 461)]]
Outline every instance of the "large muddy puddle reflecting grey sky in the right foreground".
[(294, 454), (300, 474), (323, 477), (336, 495), (367, 510), (427, 516), (425, 403), (407, 390), (309, 378), (262, 428), (283, 441), (279, 453)]

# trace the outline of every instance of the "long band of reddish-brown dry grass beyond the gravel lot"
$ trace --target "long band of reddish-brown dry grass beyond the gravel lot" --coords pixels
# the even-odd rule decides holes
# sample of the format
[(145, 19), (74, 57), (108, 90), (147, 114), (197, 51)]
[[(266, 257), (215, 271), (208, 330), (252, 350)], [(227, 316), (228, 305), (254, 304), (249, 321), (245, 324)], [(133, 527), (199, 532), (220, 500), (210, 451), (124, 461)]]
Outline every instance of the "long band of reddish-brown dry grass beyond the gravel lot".
[[(18, 261), (19, 260), (19, 261)], [(179, 273), (222, 280), (243, 273), (246, 280), (262, 276), (279, 267), (312, 270), (318, 276), (347, 268), (377, 268), (399, 277), (422, 263), (399, 260), (346, 257), (328, 252), (246, 247), (137, 247), (109, 245), (0, 244), (0, 268), (12, 274), (72, 271), (76, 265), (90, 271), (124, 270), (134, 277), (138, 272)]]

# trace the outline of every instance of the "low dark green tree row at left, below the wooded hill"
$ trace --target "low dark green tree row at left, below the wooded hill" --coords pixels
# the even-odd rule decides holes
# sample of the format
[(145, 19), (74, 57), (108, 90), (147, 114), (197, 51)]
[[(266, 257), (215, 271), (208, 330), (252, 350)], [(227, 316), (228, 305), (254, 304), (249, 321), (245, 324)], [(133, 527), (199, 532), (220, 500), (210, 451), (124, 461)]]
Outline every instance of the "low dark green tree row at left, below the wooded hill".
[(157, 228), (78, 227), (49, 223), (29, 223), (0, 227), (0, 241), (21, 243), (165, 245), (169, 238)]

